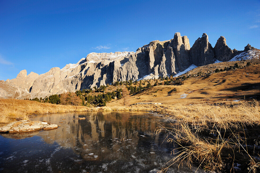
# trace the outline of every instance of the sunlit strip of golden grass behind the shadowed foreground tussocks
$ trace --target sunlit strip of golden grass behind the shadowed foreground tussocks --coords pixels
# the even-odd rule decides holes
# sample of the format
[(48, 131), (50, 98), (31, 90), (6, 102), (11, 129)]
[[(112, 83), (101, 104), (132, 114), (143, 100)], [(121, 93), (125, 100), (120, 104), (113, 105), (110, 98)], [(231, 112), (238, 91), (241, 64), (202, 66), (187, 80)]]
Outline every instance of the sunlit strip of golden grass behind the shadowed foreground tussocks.
[[(222, 106), (212, 104), (196, 105), (133, 105), (126, 107), (129, 111), (154, 111), (165, 117), (178, 119), (194, 125), (213, 125), (228, 127), (230, 125), (260, 124), (260, 105), (258, 101), (224, 103)], [(124, 110), (124, 109), (122, 109)], [(120, 111), (120, 109), (118, 109)]]

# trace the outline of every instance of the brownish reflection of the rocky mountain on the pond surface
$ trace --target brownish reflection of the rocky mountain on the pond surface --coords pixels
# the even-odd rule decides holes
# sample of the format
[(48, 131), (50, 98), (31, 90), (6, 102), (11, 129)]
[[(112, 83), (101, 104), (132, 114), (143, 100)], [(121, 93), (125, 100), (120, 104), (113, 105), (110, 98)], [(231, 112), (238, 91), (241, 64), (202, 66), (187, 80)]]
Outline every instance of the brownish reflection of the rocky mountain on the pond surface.
[[(79, 117), (86, 119), (79, 120)], [(38, 135), (48, 143), (55, 141), (60, 146), (74, 149), (84, 160), (132, 159), (132, 155), (136, 157), (135, 154), (139, 154), (136, 148), (153, 152), (153, 144), (165, 137), (165, 134), (154, 133), (157, 122), (162, 119), (147, 113), (66, 113), (39, 115), (33, 120), (62, 125), (57, 130), (43, 131)], [(63, 123), (59, 123), (61, 120)], [(167, 126), (167, 121), (162, 124)]]

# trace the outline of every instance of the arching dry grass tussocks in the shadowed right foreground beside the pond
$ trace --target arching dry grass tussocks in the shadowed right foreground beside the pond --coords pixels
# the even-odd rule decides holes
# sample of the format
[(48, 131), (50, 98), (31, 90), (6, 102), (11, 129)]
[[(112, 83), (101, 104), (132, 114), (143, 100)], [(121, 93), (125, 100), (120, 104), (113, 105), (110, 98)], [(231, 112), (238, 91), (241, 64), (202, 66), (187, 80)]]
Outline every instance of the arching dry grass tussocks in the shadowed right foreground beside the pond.
[(179, 166), (183, 163), (189, 167), (196, 164), (198, 168), (202, 167), (207, 171), (221, 172), (236, 172), (234, 163), (235, 165), (238, 163), (243, 165), (240, 167), (242, 172), (259, 171), (259, 152), (255, 149), (250, 151), (247, 148), (250, 145), (243, 145), (238, 139), (241, 136), (239, 133), (237, 135), (232, 132), (233, 129), (229, 128), (230, 134), (227, 138), (225, 133), (221, 133), (221, 128), (211, 130), (217, 134), (212, 138), (209, 137), (210, 135), (201, 135), (201, 131), (209, 129), (198, 129), (191, 127), (188, 123), (177, 124), (178, 126), (174, 128), (156, 129), (156, 133), (160, 133), (162, 130), (168, 133), (167, 142), (179, 145), (179, 148), (172, 150), (172, 154), (176, 156), (166, 164), (165, 168), (162, 168), (161, 172), (166, 172), (176, 162), (179, 162)]

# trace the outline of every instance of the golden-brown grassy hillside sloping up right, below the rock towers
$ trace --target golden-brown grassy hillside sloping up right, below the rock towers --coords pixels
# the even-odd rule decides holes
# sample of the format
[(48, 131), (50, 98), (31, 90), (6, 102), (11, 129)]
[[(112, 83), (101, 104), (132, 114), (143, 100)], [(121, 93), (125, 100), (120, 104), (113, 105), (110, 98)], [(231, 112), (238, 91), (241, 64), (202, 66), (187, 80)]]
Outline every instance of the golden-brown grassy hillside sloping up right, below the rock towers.
[[(214, 68), (214, 70), (216, 67)], [(150, 89), (127, 95), (123, 99), (113, 100), (107, 106), (134, 104), (136, 102), (158, 102), (164, 105), (189, 105), (198, 103), (233, 102), (234, 100), (252, 100), (260, 97), (260, 65), (251, 65), (225, 72), (207, 73), (184, 80), (183, 85), (159, 85)], [(189, 72), (196, 74), (197, 69)], [(151, 80), (153, 85), (156, 80)], [(147, 81), (148, 82), (148, 81)], [(110, 86), (111, 90), (115, 89)], [(120, 86), (119, 86), (120, 87)], [(182, 98), (182, 94), (187, 94)]]

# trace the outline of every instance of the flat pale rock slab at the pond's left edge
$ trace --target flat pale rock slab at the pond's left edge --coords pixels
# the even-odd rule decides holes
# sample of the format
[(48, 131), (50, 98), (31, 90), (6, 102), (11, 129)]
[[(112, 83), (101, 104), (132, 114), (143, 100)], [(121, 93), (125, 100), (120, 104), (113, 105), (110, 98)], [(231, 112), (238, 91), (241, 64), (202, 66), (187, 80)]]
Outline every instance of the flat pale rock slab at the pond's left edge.
[(22, 133), (22, 132), (32, 132), (37, 130), (50, 130), (56, 129), (57, 124), (51, 124), (42, 121), (30, 121), (30, 120), (20, 120), (9, 123), (3, 127), (0, 127), (0, 133)]

